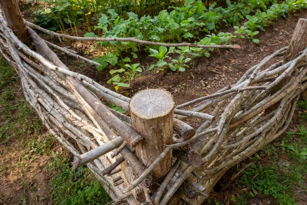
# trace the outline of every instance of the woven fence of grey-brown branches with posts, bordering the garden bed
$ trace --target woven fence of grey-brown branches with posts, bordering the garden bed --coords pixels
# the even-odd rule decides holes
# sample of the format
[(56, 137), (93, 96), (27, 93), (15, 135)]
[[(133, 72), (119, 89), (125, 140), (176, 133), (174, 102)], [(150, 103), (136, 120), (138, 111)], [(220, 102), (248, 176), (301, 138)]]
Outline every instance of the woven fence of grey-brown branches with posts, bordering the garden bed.
[[(144, 90), (130, 99), (70, 71), (48, 46), (91, 60), (45, 42), (30, 27), (60, 39), (102, 39), (27, 23), (30, 49), (0, 12), (0, 52), (19, 74), (27, 101), (75, 156), (73, 168), (87, 165), (113, 204), (200, 204), (228, 169), (286, 131), (307, 88), (307, 39), (301, 32), (306, 19), (299, 20), (289, 48), (264, 58), (236, 84), (177, 106), (164, 90)], [(272, 63), (278, 56), (283, 60)], [(205, 122), (194, 130), (184, 122), (189, 117)]]

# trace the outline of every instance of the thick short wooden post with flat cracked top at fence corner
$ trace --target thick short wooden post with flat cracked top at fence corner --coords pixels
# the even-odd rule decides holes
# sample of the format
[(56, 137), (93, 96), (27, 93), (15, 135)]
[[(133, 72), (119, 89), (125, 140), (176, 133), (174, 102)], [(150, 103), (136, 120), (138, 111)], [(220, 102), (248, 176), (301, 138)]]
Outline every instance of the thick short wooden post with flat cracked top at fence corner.
[[(162, 153), (164, 145), (172, 144), (174, 102), (169, 92), (148, 89), (137, 93), (129, 103), (131, 124), (144, 137), (136, 146), (136, 155), (149, 167)], [(157, 179), (170, 170), (171, 152), (153, 170)]]

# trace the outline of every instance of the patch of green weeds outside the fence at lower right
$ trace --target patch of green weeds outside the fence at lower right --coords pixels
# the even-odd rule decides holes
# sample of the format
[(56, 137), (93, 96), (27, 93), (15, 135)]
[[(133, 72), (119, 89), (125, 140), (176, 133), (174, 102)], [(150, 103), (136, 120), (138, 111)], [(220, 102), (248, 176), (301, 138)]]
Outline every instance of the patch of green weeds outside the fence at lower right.
[[(287, 132), (281, 142), (275, 144), (281, 148), (281, 157), (273, 145), (267, 145), (262, 153), (270, 157), (272, 163), (262, 165), (254, 157), (254, 165), (243, 171), (239, 177), (239, 187), (249, 187), (249, 195), (264, 195), (274, 197), (280, 204), (295, 204), (295, 194), (298, 187), (305, 189), (307, 130), (302, 125), (298, 132)], [(235, 198), (236, 200), (237, 198)]]

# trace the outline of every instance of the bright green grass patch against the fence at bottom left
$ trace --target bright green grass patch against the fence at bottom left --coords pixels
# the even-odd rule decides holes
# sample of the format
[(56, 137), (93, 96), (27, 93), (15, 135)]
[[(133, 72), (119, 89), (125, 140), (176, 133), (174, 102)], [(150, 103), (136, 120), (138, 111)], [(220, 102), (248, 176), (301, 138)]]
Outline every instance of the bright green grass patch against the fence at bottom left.
[(80, 167), (74, 172), (69, 158), (55, 153), (52, 153), (52, 161), (49, 168), (54, 176), (50, 186), (55, 204), (106, 204), (111, 201), (88, 169)]

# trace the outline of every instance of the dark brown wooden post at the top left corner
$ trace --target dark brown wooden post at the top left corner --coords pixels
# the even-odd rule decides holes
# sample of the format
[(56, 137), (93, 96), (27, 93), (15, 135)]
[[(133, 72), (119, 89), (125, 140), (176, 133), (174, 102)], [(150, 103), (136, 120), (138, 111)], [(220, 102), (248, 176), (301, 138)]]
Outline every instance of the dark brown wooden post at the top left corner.
[(0, 7), (8, 26), (14, 31), (21, 42), (31, 48), (31, 39), (28, 34), (24, 18), (19, 10), (17, 0), (1, 0)]

